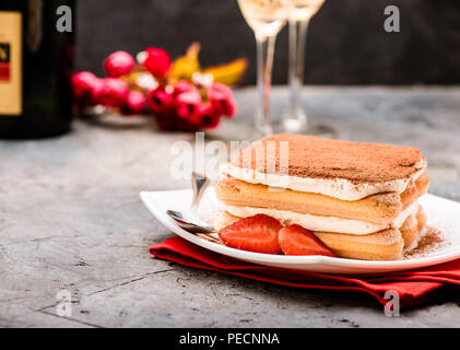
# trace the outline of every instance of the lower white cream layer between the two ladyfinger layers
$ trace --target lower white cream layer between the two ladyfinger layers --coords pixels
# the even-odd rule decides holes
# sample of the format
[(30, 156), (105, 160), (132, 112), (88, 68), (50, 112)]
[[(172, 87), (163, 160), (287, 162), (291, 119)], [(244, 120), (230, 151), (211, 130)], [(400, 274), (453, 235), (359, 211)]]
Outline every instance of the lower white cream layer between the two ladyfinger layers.
[(337, 232), (356, 235), (376, 233), (389, 228), (400, 229), (410, 214), (416, 213), (418, 203), (415, 201), (403, 210), (390, 225), (376, 224), (362, 220), (342, 219), (338, 217), (321, 217), (304, 214), (294, 211), (272, 208), (237, 207), (222, 203), (223, 209), (232, 215), (247, 218), (256, 214), (267, 214), (280, 220), (284, 224), (299, 224), (300, 226), (320, 232)]

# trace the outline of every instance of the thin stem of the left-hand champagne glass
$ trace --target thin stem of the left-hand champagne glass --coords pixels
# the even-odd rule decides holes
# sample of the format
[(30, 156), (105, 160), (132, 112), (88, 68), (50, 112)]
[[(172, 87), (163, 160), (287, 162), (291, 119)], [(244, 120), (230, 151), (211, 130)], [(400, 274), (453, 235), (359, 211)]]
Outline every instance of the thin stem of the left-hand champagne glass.
[(270, 90), (273, 70), (273, 50), (275, 36), (258, 36), (257, 40), (257, 90), (259, 94), (259, 110), (256, 114), (255, 131), (259, 136), (271, 135)]

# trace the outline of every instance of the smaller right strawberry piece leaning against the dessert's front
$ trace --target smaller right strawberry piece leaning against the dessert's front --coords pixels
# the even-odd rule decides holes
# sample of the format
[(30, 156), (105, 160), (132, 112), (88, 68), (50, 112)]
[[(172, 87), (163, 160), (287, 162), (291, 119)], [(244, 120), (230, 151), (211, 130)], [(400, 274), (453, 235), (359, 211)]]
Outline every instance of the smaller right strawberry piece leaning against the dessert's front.
[(281, 229), (278, 238), (285, 255), (326, 255), (337, 257), (317, 236), (297, 224)]

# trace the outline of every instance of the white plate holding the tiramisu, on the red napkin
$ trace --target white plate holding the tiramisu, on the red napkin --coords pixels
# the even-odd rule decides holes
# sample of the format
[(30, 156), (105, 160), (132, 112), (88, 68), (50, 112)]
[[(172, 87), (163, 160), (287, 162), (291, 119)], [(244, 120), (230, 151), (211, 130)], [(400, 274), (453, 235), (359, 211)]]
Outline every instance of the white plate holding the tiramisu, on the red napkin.
[[(425, 195), (420, 199), (428, 215), (428, 225), (444, 233), (445, 244), (429, 254), (393, 261), (368, 261), (327, 256), (284, 256), (259, 254), (234, 249), (200, 238), (180, 229), (168, 215), (167, 209), (184, 210), (189, 208), (192, 192), (190, 189), (141, 192), (141, 199), (153, 215), (170, 231), (203, 248), (253, 264), (280, 268), (326, 273), (381, 273), (421, 268), (460, 258), (460, 203), (441, 197)], [(213, 203), (216, 208), (215, 194), (209, 188), (202, 203)]]

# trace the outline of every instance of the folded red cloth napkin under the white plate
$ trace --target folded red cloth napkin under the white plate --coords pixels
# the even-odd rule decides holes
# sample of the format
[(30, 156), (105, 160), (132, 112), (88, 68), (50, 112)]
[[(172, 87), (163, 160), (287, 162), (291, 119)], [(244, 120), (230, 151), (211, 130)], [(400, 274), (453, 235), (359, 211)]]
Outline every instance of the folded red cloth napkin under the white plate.
[(460, 285), (460, 259), (423, 269), (379, 276), (343, 276), (293, 271), (234, 260), (199, 247), (181, 237), (169, 238), (150, 247), (157, 258), (188, 267), (220, 271), (248, 279), (305, 289), (362, 291), (381, 304), (387, 291), (399, 293), (400, 307), (428, 301), (434, 291), (447, 284)]

